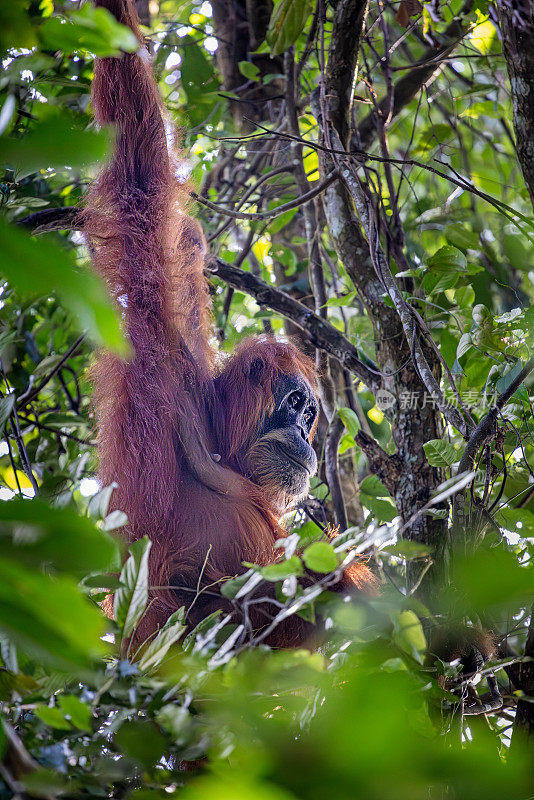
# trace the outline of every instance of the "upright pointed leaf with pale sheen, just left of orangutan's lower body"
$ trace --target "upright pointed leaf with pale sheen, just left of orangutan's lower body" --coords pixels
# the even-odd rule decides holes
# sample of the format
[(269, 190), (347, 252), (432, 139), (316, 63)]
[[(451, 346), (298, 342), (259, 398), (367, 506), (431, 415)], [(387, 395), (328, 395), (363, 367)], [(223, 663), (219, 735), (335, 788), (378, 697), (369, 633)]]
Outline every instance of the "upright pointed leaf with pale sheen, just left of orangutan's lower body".
[(148, 602), (148, 555), (151, 546), (148, 536), (143, 536), (130, 546), (130, 556), (120, 576), (124, 588), (115, 592), (115, 621), (125, 638), (132, 635)]

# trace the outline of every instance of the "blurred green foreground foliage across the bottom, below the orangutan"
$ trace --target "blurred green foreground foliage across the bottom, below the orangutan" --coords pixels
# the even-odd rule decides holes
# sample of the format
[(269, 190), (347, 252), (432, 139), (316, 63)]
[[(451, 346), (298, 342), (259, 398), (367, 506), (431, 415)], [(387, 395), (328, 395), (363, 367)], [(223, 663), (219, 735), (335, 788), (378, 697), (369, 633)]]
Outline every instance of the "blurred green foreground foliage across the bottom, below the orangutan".
[[(7, 731), (13, 736), (16, 724), (17, 736), (35, 759), (31, 771), (19, 776), (30, 796), (204, 798), (240, 792), (277, 800), (320, 798), (331, 791), (340, 798), (428, 797), (429, 792), (440, 797), (449, 787), (462, 798), (526, 797), (528, 761), (516, 743), (505, 767), (498, 755), (498, 727), (473, 718), (475, 743), (465, 748), (448, 746), (439, 734), (440, 704), (447, 713), (458, 709), (458, 698), (440, 688), (439, 671), (423, 664), (425, 638), (412, 599), (386, 592), (380, 601), (350, 606), (323, 593), (301, 603), (301, 611), (320, 610), (333, 630), (316, 654), (235, 647), (235, 626), (214, 620), (184, 639), (178, 613), (139, 660), (129, 645), (128, 615), (107, 622), (114, 641), (99, 638), (104, 620), (92, 603), (97, 590), (89, 588), (99, 584), (98, 577), (76, 589), (82, 563), (94, 573), (102, 569), (102, 560), (91, 563), (97, 547), (112, 556), (105, 534), (61, 510), (47, 510), (47, 523), (36, 516), (30, 525), (23, 509), (34, 503), (19, 503), (11, 515), (22, 516), (25, 539), (13, 528), (3, 530), (12, 541), (11, 574), (18, 577), (26, 569), (27, 575), (20, 594), (11, 594), (11, 608), (4, 595), (0, 606), (4, 629), (11, 609), (24, 610), (28, 597), (39, 623), (47, 595), (62, 608), (46, 627), (37, 624), (32, 630), (27, 620), (17, 620), (16, 630), (33, 634), (39, 660), (23, 639), (20, 649), (8, 639), (2, 646)], [(53, 522), (76, 542), (80, 563), (69, 558), (61, 534), (47, 535), (45, 525)], [(312, 548), (318, 553), (320, 544), (308, 545), (304, 559)], [(118, 584), (119, 604), (135, 609), (136, 616), (146, 594), (127, 587), (146, 586), (148, 545), (141, 540), (132, 548)], [(334, 542), (337, 552), (344, 548)], [(45, 557), (55, 565), (55, 576), (27, 569)], [(293, 559), (283, 563), (291, 565), (290, 574), (298, 574)], [(469, 585), (478, 587), (474, 591), (482, 604), (491, 599), (494, 569), (493, 557), (471, 565)], [(530, 572), (513, 558), (499, 562), (504, 585), (516, 583), (516, 603), (528, 593)], [(68, 596), (59, 574), (71, 579)], [(89, 612), (99, 625), (87, 624)], [(92, 660), (67, 664), (59, 636), (72, 650), (83, 639)], [(455, 716), (451, 720), (459, 723)], [(6, 741), (4, 748), (9, 769), (14, 756)], [(184, 761), (205, 757), (209, 767), (202, 776), (195, 774), (194, 763), (184, 771)], [(9, 789), (13, 786), (6, 787), (6, 796)]]

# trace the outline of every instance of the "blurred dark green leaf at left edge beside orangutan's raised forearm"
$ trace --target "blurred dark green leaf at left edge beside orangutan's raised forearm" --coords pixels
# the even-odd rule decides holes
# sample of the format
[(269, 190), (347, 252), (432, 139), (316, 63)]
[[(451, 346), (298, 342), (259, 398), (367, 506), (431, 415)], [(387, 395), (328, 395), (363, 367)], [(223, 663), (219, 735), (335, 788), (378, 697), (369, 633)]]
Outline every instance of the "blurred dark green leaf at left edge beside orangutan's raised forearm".
[(0, 162), (17, 178), (47, 167), (86, 167), (105, 158), (109, 132), (86, 130), (85, 121), (53, 106), (39, 110), (39, 121), (22, 139), (0, 139)]

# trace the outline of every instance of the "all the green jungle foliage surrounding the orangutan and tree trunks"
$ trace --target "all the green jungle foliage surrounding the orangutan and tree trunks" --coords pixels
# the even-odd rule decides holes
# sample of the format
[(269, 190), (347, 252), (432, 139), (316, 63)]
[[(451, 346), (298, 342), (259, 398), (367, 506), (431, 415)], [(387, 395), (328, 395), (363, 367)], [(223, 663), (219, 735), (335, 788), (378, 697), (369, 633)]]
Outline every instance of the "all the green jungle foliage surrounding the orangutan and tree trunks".
[[(401, 6), (413, 8), (404, 0)], [(392, 113), (387, 137), (376, 134), (375, 119), (368, 158), (357, 170), (401, 297), (424, 320), (428, 352), (432, 341), (443, 359), (434, 367), (436, 374), (441, 369), (445, 398), (474, 426), (527, 363), (534, 322), (532, 207), (513, 147), (499, 32), (484, 4), (462, 10), (453, 2), (432, 14), (425, 6), (408, 32), (400, 12), (395, 18), (389, 7), (372, 8), (353, 122), (367, 136), (363, 122), (373, 103), (388, 96), (399, 75), (417, 75), (410, 68), (428, 55), (427, 42), (439, 45), (453, 18), (466, 24), (454, 56), (444, 56), (427, 88)], [(389, 395), (379, 402), (358, 376), (331, 365), (332, 419), (345, 426), (338, 454), (348, 529), (322, 536), (321, 527), (333, 520), (322, 469), (309, 502), (288, 522), (292, 533), (281, 543), (280, 561), (246, 565), (243, 576), (222, 588), (246, 607), (261, 581), (276, 584), (278, 613), (323, 620), (325, 643), (315, 653), (271, 652), (220, 617), (187, 633), (185, 609), (136, 653), (130, 637), (147, 602), (148, 543), (132, 547), (118, 576), (126, 519), (108, 513), (113, 486), (94, 481), (88, 371), (93, 345), (127, 352), (120, 314), (88, 271), (82, 238), (70, 223), (35, 237), (29, 232), (35, 221), (20, 224), (81, 202), (109, 143), (109, 132), (96, 131), (91, 121), (93, 59), (136, 44), (90, 5), (17, 0), (0, 10), (2, 796), (532, 794), (531, 755), (517, 726), (512, 736), (515, 708), (528, 694), (517, 680), (534, 585), (528, 380), (500, 410), (476, 463), (456, 477), (465, 437), (440, 416), (422, 383), (415, 392), (408, 384), (399, 390), (413, 355), (402, 350), (402, 337), (395, 339), (400, 363), (387, 372), (384, 328), (357, 283), (360, 272), (351, 272), (338, 253), (325, 207), (317, 212), (317, 238), (326, 299), (308, 272), (303, 208), (310, 204), (295, 202), (263, 220), (237, 222), (226, 214), (269, 212), (296, 201), (303, 194), (294, 166), (300, 156), (304, 188), (324, 177), (321, 125), (310, 103), (324, 78), (333, 19), (329, 4), (323, 25), (307, 0), (277, 0), (264, 40), (236, 64), (225, 64), (220, 52), (215, 63), (216, 36), (222, 41), (224, 32), (214, 30), (208, 3), (163, 0), (150, 29), (166, 105), (186, 131), (193, 181), (214, 205), (199, 212), (213, 252), (309, 304), (366, 363), (389, 375), (384, 388), (393, 407)], [(292, 48), (306, 144), (300, 156), (283, 128), (287, 105), (280, 103)], [(363, 272), (367, 256), (359, 258)], [(393, 301), (379, 289), (386, 319)], [(291, 321), (219, 279), (213, 300), (223, 350), (250, 333), (295, 332)], [(430, 420), (426, 413), (440, 419), (434, 430), (415, 424)], [(323, 421), (323, 466), (326, 433)], [(386, 462), (399, 485), (387, 469), (382, 480), (376, 477), (362, 433), (381, 446), (382, 458), (405, 458)], [(433, 470), (432, 485), (417, 483), (420, 464)], [(410, 482), (415, 506), (403, 495)], [(447, 503), (454, 497), (467, 498), (466, 539), (452, 525)], [(456, 547), (445, 554), (440, 542), (450, 538)], [(328, 586), (356, 553), (369, 559), (382, 594), (345, 603)], [(439, 579), (432, 592), (421, 593), (436, 565)], [(310, 570), (314, 580), (303, 588), (297, 579)], [(115, 591), (115, 622), (97, 605), (108, 591)], [(492, 666), (505, 706), (498, 715), (464, 717), (459, 696), (466, 682), (458, 664), (425, 658), (429, 631), (459, 619), (481, 621), (499, 637)], [(489, 667), (477, 687), (482, 697), (488, 674)], [(183, 762), (194, 763), (184, 770)]]

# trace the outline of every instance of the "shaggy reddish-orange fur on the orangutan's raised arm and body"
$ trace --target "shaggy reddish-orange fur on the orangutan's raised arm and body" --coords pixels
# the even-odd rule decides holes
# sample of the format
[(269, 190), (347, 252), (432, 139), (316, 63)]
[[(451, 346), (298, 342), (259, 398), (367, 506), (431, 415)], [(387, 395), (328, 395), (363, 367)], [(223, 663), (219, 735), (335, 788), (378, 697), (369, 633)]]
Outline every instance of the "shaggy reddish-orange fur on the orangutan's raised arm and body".
[[(97, 5), (142, 44), (131, 0)], [(147, 58), (97, 59), (93, 108), (100, 124), (115, 125), (116, 143), (88, 195), (84, 227), (133, 346), (127, 363), (103, 354), (94, 370), (100, 477), (118, 483), (113, 503), (128, 515), (129, 539), (148, 534), (153, 542), (142, 640), (189, 607), (197, 587), (204, 591), (192, 623), (224, 606), (217, 585), (242, 572), (243, 561), (276, 559), (284, 531), (268, 492), (247, 478), (244, 457), (278, 376), (300, 373), (312, 386), (316, 379), (308, 358), (269, 337), (246, 341), (214, 369), (206, 246), (185, 210), (189, 190), (175, 177), (180, 159)], [(360, 588), (373, 582), (364, 566), (351, 576)], [(258, 610), (255, 624), (265, 613)], [(270, 641), (297, 644), (308, 633), (295, 618)]]

